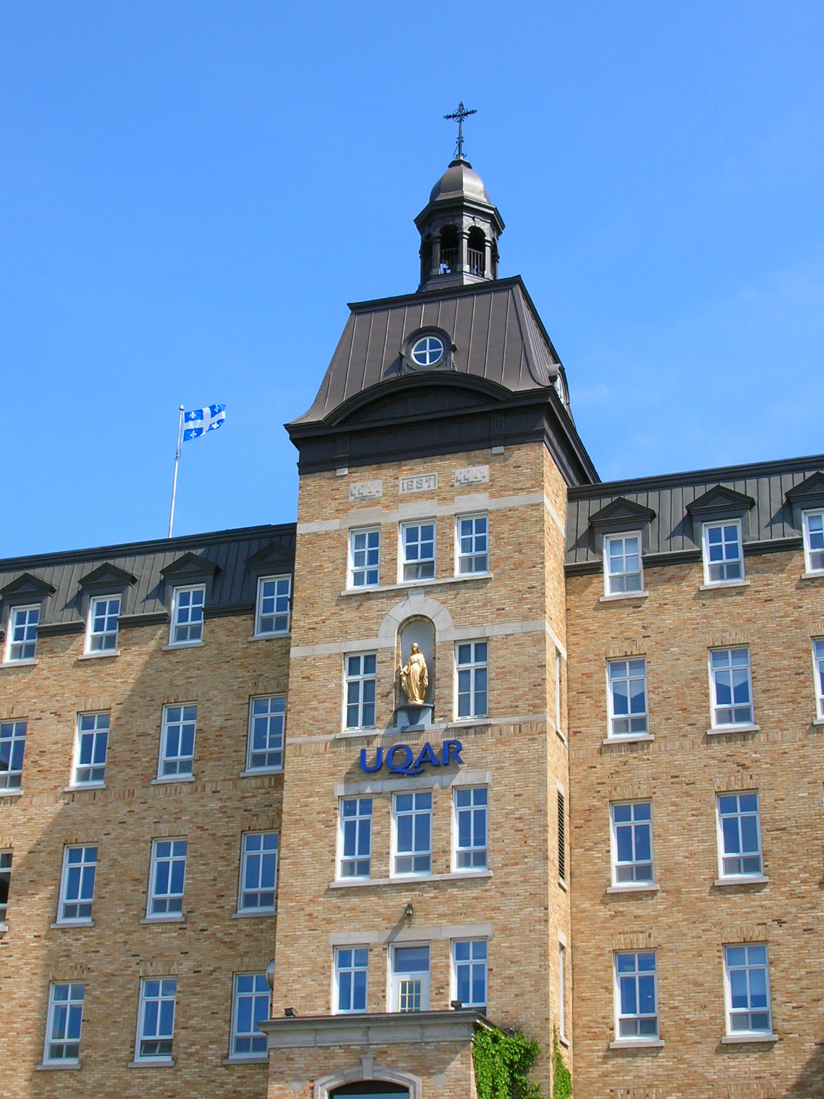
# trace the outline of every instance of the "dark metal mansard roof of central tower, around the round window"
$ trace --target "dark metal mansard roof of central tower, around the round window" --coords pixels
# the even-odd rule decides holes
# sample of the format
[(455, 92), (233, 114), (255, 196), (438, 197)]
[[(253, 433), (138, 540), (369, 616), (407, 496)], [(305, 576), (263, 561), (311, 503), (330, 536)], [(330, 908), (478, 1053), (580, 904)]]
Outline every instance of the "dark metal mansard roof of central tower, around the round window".
[(457, 375), (523, 392), (550, 386), (558, 374), (560, 359), (520, 276), (350, 302), (349, 309), (318, 396), (296, 424), (319, 422), (350, 397), (399, 376), (403, 345), (421, 329), (452, 337)]

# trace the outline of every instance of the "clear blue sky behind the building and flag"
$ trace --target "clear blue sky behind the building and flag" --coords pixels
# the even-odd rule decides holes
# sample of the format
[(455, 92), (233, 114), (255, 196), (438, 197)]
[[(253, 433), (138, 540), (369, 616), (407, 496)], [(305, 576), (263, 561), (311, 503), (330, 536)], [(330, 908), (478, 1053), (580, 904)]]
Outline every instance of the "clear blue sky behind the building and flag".
[(290, 522), (467, 155), (603, 479), (824, 451), (824, 5), (0, 3), (0, 556)]

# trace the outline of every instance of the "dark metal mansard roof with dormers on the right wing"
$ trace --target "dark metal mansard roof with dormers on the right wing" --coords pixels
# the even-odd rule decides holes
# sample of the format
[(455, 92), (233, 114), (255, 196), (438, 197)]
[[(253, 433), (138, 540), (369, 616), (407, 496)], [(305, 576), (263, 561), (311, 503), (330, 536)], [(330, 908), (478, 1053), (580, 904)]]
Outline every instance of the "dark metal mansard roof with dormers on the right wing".
[(567, 504), (567, 571), (599, 569), (600, 535), (622, 524), (627, 531), (644, 528), (648, 564), (700, 559), (701, 522), (709, 518), (742, 518), (745, 553), (798, 550), (802, 544), (800, 504), (805, 499), (814, 507), (824, 502), (822, 470), (824, 454), (817, 454), (572, 486)]

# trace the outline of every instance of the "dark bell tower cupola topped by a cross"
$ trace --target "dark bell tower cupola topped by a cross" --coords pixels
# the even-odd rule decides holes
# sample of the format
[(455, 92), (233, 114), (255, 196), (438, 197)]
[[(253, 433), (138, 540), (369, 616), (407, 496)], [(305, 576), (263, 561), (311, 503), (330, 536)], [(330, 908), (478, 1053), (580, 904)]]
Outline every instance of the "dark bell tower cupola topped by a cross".
[(498, 278), (498, 237), (503, 221), (483, 180), (464, 156), (464, 119), (475, 111), (458, 106), (445, 118), (458, 123), (455, 158), (432, 188), (415, 218), (421, 234), (419, 291), (469, 286)]

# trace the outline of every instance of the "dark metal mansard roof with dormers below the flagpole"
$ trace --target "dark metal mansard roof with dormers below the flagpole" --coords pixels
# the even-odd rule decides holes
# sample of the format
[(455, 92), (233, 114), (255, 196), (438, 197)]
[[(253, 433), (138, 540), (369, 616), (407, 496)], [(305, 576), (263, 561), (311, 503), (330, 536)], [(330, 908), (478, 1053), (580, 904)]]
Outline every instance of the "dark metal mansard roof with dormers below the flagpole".
[(257, 577), (291, 573), (294, 523), (0, 559), (0, 608), (45, 599), (41, 626), (82, 625), (83, 590), (122, 595), (121, 620), (166, 617), (175, 584), (210, 580), (207, 617), (254, 607)]

